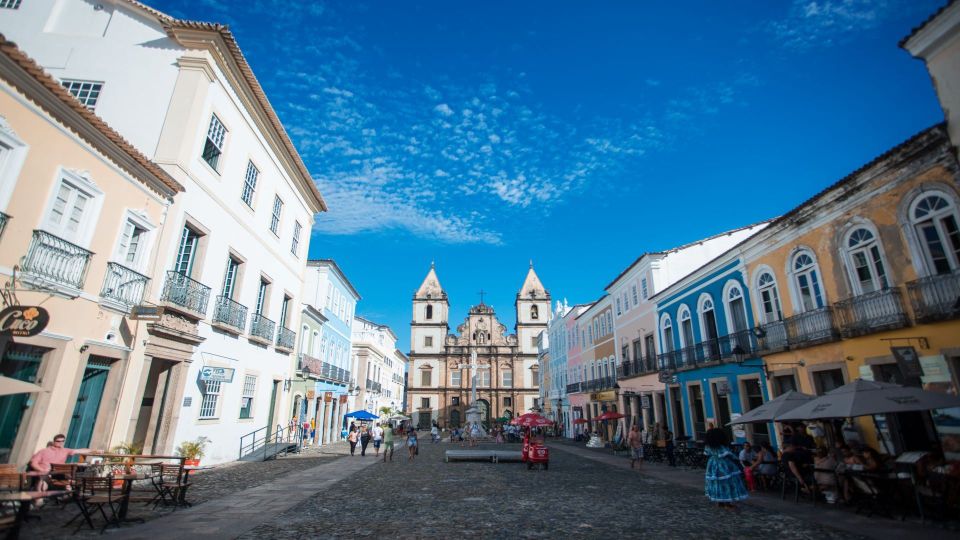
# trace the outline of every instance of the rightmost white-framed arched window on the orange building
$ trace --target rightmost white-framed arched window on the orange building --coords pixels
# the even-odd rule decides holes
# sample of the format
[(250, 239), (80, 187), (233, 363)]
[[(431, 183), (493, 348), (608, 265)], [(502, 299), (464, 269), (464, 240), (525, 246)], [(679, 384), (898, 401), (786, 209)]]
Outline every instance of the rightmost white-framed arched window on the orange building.
[(951, 197), (942, 192), (922, 195), (911, 205), (910, 221), (930, 274), (960, 268), (960, 218)]

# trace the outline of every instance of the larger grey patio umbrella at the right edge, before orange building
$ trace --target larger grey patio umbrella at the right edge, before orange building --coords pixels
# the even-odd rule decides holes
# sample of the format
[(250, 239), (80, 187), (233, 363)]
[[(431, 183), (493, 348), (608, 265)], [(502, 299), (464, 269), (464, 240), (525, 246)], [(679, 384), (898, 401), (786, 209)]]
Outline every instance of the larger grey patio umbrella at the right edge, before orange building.
[(854, 418), (952, 407), (960, 407), (960, 398), (957, 396), (912, 386), (857, 379), (780, 415), (777, 420), (785, 422)]

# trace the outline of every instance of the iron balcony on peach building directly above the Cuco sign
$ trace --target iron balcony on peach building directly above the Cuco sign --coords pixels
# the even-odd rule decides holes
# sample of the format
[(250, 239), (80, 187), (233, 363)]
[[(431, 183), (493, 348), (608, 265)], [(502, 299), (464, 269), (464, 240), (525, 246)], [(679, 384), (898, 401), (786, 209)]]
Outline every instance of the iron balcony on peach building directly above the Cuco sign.
[(33, 231), (33, 240), (20, 265), (25, 277), (39, 278), (73, 289), (83, 288), (92, 252), (46, 231)]

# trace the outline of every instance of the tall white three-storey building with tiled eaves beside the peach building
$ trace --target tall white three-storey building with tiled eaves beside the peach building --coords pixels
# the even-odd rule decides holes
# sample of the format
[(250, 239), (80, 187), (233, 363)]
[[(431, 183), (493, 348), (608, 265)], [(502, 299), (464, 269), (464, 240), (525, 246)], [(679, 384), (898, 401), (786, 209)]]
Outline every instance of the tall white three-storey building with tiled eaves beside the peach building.
[[(325, 204), (230, 31), (132, 0), (36, 0), (0, 31), (185, 187), (156, 241), (159, 320), (126, 440), (208, 437), (205, 461), (275, 425), (298, 328), (309, 231)], [(134, 231), (136, 236), (138, 231)]]

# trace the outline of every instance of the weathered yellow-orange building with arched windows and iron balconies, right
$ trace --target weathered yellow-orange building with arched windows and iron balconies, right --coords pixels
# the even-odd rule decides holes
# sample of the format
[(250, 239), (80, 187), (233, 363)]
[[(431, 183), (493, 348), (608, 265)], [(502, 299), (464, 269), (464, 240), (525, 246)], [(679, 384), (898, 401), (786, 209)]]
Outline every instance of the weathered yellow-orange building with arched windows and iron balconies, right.
[[(960, 183), (945, 126), (876, 158), (741, 249), (772, 395), (819, 395), (856, 378), (957, 392)], [(899, 347), (919, 361), (898, 361)], [(883, 450), (869, 420), (858, 421), (859, 435)], [(891, 451), (934, 433), (919, 413), (884, 421)]]

